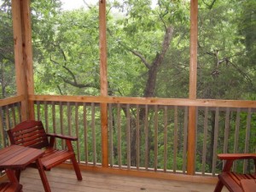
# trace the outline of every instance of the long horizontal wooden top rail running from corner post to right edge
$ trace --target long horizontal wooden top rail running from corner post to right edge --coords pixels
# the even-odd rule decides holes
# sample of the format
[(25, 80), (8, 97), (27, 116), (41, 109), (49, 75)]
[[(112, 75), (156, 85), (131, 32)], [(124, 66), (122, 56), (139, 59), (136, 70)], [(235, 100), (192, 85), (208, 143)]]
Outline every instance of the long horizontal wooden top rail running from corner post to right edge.
[(138, 105), (166, 105), (166, 106), (195, 106), (219, 108), (256, 108), (256, 101), (242, 100), (212, 100), (212, 99), (183, 99), (183, 98), (146, 98), (146, 97), (118, 97), (118, 96), (29, 96), (32, 101), (45, 102), (96, 102), (120, 103)]

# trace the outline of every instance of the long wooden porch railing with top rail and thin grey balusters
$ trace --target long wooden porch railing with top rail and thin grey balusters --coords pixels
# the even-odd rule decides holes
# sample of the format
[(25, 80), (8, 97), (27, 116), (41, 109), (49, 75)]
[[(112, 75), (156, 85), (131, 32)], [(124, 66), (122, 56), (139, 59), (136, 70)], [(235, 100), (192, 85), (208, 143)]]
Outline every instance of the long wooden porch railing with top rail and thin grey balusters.
[[(83, 165), (102, 165), (101, 103), (108, 103), (111, 167), (185, 174), (189, 106), (197, 109), (197, 174), (217, 174), (223, 166), (217, 159), (218, 153), (255, 153), (256, 149), (256, 102), (252, 101), (102, 96), (31, 96), (30, 99), (35, 103), (36, 119), (43, 121), (47, 131), (79, 137), (74, 148)], [(16, 106), (8, 104), (1, 108), (12, 105)], [(2, 137), (6, 137), (1, 130)], [(56, 144), (65, 147), (64, 143)], [(253, 166), (244, 161), (235, 164), (234, 169), (246, 172)]]

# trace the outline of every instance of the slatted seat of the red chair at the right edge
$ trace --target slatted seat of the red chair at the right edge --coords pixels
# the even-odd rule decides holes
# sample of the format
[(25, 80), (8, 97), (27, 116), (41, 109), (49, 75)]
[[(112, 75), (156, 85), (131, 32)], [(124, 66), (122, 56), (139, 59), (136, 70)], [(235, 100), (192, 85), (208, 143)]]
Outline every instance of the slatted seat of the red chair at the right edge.
[(230, 191), (243, 192), (241, 179), (256, 179), (256, 174), (240, 174), (236, 172), (223, 172), (218, 178)]

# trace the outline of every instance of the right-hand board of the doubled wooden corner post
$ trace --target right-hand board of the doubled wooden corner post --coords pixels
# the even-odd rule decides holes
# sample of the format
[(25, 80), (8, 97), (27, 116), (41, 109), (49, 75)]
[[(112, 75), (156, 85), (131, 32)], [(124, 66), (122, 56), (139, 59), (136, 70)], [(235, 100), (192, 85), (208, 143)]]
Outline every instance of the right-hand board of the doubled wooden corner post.
[(21, 0), (21, 18), (23, 34), (23, 60), (26, 74), (26, 98), (28, 102), (29, 119), (35, 119), (34, 102), (28, 100), (28, 96), (34, 95), (33, 64), (32, 64), (32, 27), (30, 14), (30, 0)]

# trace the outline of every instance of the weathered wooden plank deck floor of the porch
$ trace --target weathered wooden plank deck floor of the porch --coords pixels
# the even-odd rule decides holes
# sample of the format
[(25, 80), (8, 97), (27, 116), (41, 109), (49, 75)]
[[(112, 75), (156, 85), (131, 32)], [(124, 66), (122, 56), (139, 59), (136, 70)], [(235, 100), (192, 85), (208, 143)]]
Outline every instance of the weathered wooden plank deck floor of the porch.
[[(77, 181), (73, 170), (54, 168), (46, 172), (52, 192), (86, 191), (157, 191), (157, 192), (212, 192), (213, 184), (177, 182), (145, 177), (119, 176), (98, 172), (82, 172), (83, 181)], [(38, 170), (27, 168), (21, 172), (23, 192), (44, 192)], [(223, 192), (228, 191), (223, 189)]]

